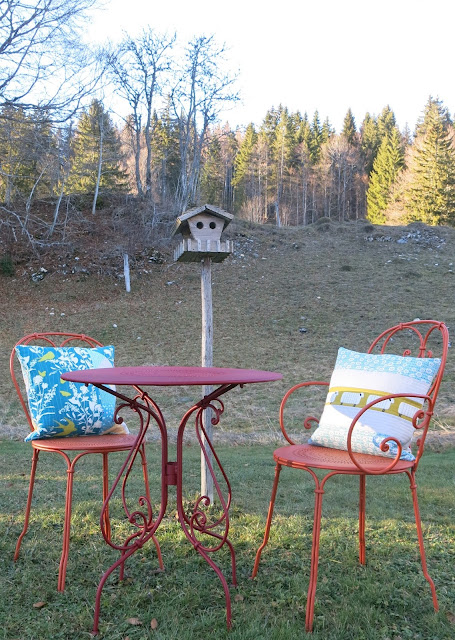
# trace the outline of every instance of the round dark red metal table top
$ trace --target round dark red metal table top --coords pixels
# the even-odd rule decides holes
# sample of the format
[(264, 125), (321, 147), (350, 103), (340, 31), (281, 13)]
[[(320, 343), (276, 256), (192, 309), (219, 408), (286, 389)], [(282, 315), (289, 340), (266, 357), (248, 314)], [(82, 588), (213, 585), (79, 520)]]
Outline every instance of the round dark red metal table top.
[(128, 384), (157, 387), (180, 385), (251, 384), (281, 380), (282, 374), (256, 369), (219, 367), (112, 367), (63, 373), (63, 380), (86, 384)]

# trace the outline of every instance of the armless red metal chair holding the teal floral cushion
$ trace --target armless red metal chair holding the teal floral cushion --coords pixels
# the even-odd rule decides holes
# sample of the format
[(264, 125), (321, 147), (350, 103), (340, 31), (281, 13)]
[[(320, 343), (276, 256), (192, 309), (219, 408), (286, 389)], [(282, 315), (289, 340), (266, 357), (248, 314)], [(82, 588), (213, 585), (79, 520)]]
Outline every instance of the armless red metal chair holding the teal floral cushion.
[[(44, 333), (33, 333), (23, 337), (19, 340), (17, 345), (29, 345), (29, 344), (41, 344), (48, 345), (51, 347), (64, 347), (64, 346), (79, 346), (79, 347), (101, 347), (101, 343), (97, 340), (85, 336), (83, 334), (76, 333), (60, 333), (60, 332), (44, 332)], [(16, 376), (16, 352), (15, 348), (13, 348), (10, 356), (10, 372), (13, 380), (14, 387), (19, 396), (20, 403), (25, 412), (27, 422), (31, 431), (34, 430), (32, 420), (30, 417), (29, 408), (27, 405), (27, 401), (23, 394), (21, 385), (19, 384), (19, 380), (22, 379), (22, 376)], [(58, 591), (64, 591), (65, 589), (65, 577), (66, 577), (66, 567), (68, 563), (68, 553), (69, 553), (69, 543), (70, 543), (70, 525), (71, 525), (71, 507), (72, 507), (72, 496), (73, 496), (73, 477), (76, 463), (83, 457), (89, 453), (98, 453), (103, 458), (103, 502), (106, 500), (108, 492), (109, 492), (109, 467), (108, 467), (108, 456), (110, 453), (114, 451), (128, 451), (134, 445), (136, 440), (136, 436), (134, 434), (122, 434), (122, 435), (97, 435), (97, 436), (81, 436), (81, 437), (66, 437), (66, 438), (48, 438), (42, 440), (32, 440), (31, 445), (33, 448), (33, 457), (32, 457), (32, 469), (30, 474), (30, 483), (29, 483), (29, 491), (27, 498), (27, 506), (25, 509), (25, 520), (24, 527), (19, 536), (19, 539), (16, 544), (16, 550), (14, 553), (14, 560), (17, 560), (19, 557), (19, 552), (21, 548), (22, 539), (25, 536), (29, 518), (30, 518), (30, 509), (32, 504), (32, 496), (33, 496), (33, 486), (35, 483), (35, 475), (36, 475), (36, 467), (38, 464), (38, 457), (40, 451), (48, 451), (51, 453), (58, 453), (66, 462), (66, 471), (67, 471), (67, 483), (66, 483), (66, 499), (65, 499), (65, 519), (63, 526), (63, 548), (62, 555), (60, 559), (60, 566), (58, 572)], [(73, 459), (70, 458), (70, 455), (76, 454)], [(142, 460), (142, 470), (144, 475), (145, 482), (145, 491), (148, 500), (150, 500), (150, 492), (149, 492), (149, 483), (148, 483), (148, 474), (147, 474), (147, 460), (145, 457), (145, 448), (144, 446), (140, 449), (140, 455)], [(109, 512), (106, 509), (104, 512), (104, 528), (107, 533), (107, 536), (110, 538), (110, 522), (109, 522)], [(161, 556), (161, 550), (158, 541), (156, 538), (153, 538), (158, 554), (158, 561), (160, 568), (163, 569), (163, 560)], [(122, 577), (122, 576), (121, 576)]]

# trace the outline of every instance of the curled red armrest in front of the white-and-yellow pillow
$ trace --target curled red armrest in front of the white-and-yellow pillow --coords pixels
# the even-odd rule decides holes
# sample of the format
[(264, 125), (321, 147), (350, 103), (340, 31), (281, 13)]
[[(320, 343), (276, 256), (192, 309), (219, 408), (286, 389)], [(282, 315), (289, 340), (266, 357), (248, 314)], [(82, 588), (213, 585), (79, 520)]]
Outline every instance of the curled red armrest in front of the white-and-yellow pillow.
[[(389, 444), (387, 443), (394, 442), (397, 445), (396, 456), (395, 458), (391, 459), (390, 465), (385, 469), (381, 469), (380, 471), (372, 471), (371, 469), (367, 469), (366, 467), (364, 467), (360, 462), (356, 460), (355, 452), (353, 452), (351, 448), (352, 432), (357, 422), (360, 420), (363, 414), (366, 411), (368, 411), (368, 409), (371, 409), (372, 407), (374, 407), (375, 404), (378, 404), (379, 402), (384, 402), (384, 400), (392, 400), (394, 398), (421, 398), (424, 401), (422, 404), (422, 408), (417, 409), (417, 411), (415, 412), (412, 418), (412, 426), (414, 427), (414, 429), (423, 429), (422, 442), (419, 441), (419, 453), (416, 456), (415, 464), (417, 464), (423, 452), (423, 442), (425, 440), (425, 436), (428, 431), (428, 427), (430, 425), (430, 420), (433, 415), (433, 400), (431, 399), (431, 397), (428, 395), (423, 395), (423, 394), (421, 395), (417, 393), (391, 393), (386, 396), (380, 396), (379, 398), (372, 400), (371, 402), (366, 404), (364, 407), (362, 407), (362, 409), (360, 409), (360, 411), (357, 413), (357, 415), (354, 417), (353, 421), (351, 422), (351, 426), (349, 427), (348, 436), (347, 436), (347, 449), (348, 449), (349, 457), (351, 458), (352, 462), (360, 471), (367, 473), (369, 475), (378, 475), (383, 473), (389, 473), (390, 471), (392, 471), (395, 465), (397, 464), (397, 462), (400, 460), (401, 452), (403, 450), (402, 444), (397, 438), (394, 438), (393, 436), (387, 436), (386, 438), (384, 438), (379, 448), (381, 449), (381, 451), (386, 452), (389, 450)], [(427, 403), (426, 408), (425, 408), (425, 403)], [(418, 420), (421, 420), (419, 424), (417, 423)]]

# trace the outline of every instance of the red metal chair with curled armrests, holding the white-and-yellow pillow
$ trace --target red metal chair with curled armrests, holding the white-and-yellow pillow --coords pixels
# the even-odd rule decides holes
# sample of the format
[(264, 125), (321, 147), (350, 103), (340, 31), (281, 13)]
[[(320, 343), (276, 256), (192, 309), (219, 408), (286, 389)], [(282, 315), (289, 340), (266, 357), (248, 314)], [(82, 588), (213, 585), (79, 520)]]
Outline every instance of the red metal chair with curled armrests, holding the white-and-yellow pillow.
[[(433, 346), (434, 345), (434, 346)], [(425, 438), (427, 435), (428, 427), (431, 417), (433, 415), (434, 404), (438, 395), (439, 387), (441, 384), (442, 376), (444, 373), (444, 367), (447, 357), (447, 349), (449, 346), (449, 336), (447, 327), (442, 322), (435, 322), (432, 320), (416, 320), (413, 322), (402, 323), (388, 329), (383, 332), (368, 349), (368, 353), (386, 353), (393, 349), (396, 353), (397, 349), (400, 349), (400, 355), (413, 355), (415, 357), (440, 357), (441, 365), (438, 373), (432, 383), (428, 395), (425, 398), (425, 403), (421, 411), (418, 411), (412, 420), (412, 424), (415, 429), (419, 430), (420, 437), (416, 442), (417, 450), (415, 452), (415, 461), (410, 462), (400, 459), (401, 445), (398, 446), (398, 452), (395, 458), (383, 458), (376, 455), (366, 455), (360, 453), (354, 453), (351, 449), (351, 434), (355, 428), (359, 418), (373, 406), (375, 403), (382, 402), (388, 398), (394, 397), (409, 397), (412, 394), (391, 394), (389, 396), (382, 396), (379, 400), (370, 402), (363, 407), (359, 413), (353, 419), (348, 435), (347, 451), (341, 451), (339, 449), (330, 449), (327, 447), (314, 446), (311, 444), (295, 444), (295, 442), (289, 437), (286, 428), (284, 426), (284, 409), (289, 398), (298, 390), (306, 388), (307, 390), (312, 385), (324, 385), (328, 386), (328, 382), (302, 382), (292, 387), (286, 395), (283, 397), (280, 406), (280, 426), (284, 437), (290, 443), (290, 446), (281, 447), (274, 451), (273, 457), (276, 462), (275, 467), (275, 480), (272, 488), (272, 497), (270, 501), (267, 523), (265, 528), (264, 540), (259, 547), (256, 559), (254, 563), (252, 577), (256, 577), (261, 559), (261, 554), (266, 546), (269, 534), (270, 526), (273, 517), (273, 508), (275, 504), (275, 498), (278, 488), (278, 481), (280, 472), (283, 466), (291, 467), (293, 469), (301, 469), (307, 471), (314, 480), (315, 483), (315, 499), (314, 499), (314, 521), (313, 521), (313, 543), (311, 551), (311, 568), (310, 568), (310, 583), (308, 588), (307, 605), (306, 605), (306, 619), (305, 627), (306, 631), (313, 630), (313, 616), (314, 616), (314, 603), (316, 595), (316, 584), (318, 577), (318, 560), (319, 560), (319, 535), (321, 528), (321, 514), (322, 514), (322, 498), (324, 495), (325, 483), (329, 478), (336, 475), (356, 475), (360, 479), (360, 494), (359, 494), (359, 560), (361, 564), (365, 564), (365, 486), (366, 477), (369, 475), (391, 475), (398, 473), (405, 473), (410, 480), (410, 488), (412, 493), (412, 500), (414, 505), (414, 516), (417, 526), (417, 537), (420, 549), (420, 558), (422, 562), (423, 574), (428, 581), (431, 593), (433, 596), (433, 606), (435, 611), (438, 611), (438, 600), (436, 597), (436, 590), (431, 579), (428, 570), (425, 557), (425, 549), (423, 545), (422, 526), (420, 521), (419, 505), (417, 501), (417, 485), (416, 485), (416, 471), (422, 457)], [(437, 349), (437, 351), (433, 351)], [(387, 349), (387, 351), (386, 351)], [(403, 390), (406, 391), (406, 390)], [(289, 408), (289, 406), (288, 406)], [(318, 423), (318, 420), (312, 416), (309, 416), (304, 421), (306, 429), (311, 428), (311, 423)], [(388, 438), (388, 441), (392, 438)], [(395, 441), (397, 444), (398, 442)], [(383, 451), (388, 449), (385, 442)], [(317, 470), (323, 470), (324, 475), (316, 473)]]

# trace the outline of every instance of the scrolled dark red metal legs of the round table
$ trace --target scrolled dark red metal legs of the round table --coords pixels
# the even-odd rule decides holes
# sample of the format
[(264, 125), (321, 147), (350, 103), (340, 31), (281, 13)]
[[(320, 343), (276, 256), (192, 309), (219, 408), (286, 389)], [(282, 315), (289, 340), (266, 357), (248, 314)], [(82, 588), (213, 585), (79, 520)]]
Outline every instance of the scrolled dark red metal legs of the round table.
[[(104, 388), (103, 385), (97, 385), (100, 388)], [(168, 439), (166, 423), (158, 405), (152, 400), (147, 393), (135, 386), (137, 395), (134, 398), (128, 398), (122, 393), (116, 391), (115, 395), (120, 398), (121, 404), (116, 410), (115, 419), (118, 422), (122, 421), (120, 412), (124, 409), (131, 409), (139, 418), (139, 434), (137, 436), (134, 447), (128, 452), (128, 456), (120, 469), (116, 480), (114, 481), (109, 494), (104, 502), (100, 524), (101, 531), (106, 543), (113, 549), (120, 552), (120, 557), (114, 562), (109, 569), (102, 576), (98, 585), (95, 601), (95, 613), (93, 621), (92, 635), (97, 635), (99, 632), (99, 616), (101, 607), (101, 595), (103, 592), (106, 580), (115, 569), (119, 568), (120, 579), (124, 576), (125, 562), (136, 551), (141, 549), (148, 540), (152, 539), (155, 542), (155, 546), (158, 553), (158, 561), (160, 567), (162, 567), (161, 551), (159, 544), (155, 538), (155, 532), (157, 531), (167, 508), (168, 503), (168, 487), (175, 486), (177, 490), (177, 513), (180, 526), (182, 527), (185, 536), (189, 542), (193, 545), (194, 549), (201, 555), (204, 560), (212, 567), (218, 576), (224, 590), (224, 596), (226, 601), (226, 623), (228, 628), (231, 627), (231, 597), (229, 593), (229, 586), (223, 572), (218, 565), (213, 561), (212, 554), (219, 551), (225, 544), (228, 546), (231, 557), (232, 565), (232, 584), (237, 586), (236, 579), (236, 564), (235, 564), (235, 552), (232, 543), (228, 539), (229, 533), (229, 507), (231, 504), (231, 486), (227, 475), (221, 465), (221, 462), (216, 454), (213, 444), (205, 431), (203, 424), (203, 414), (206, 409), (210, 409), (212, 412), (212, 424), (216, 425), (219, 422), (220, 416), (224, 411), (224, 405), (219, 399), (221, 395), (227, 391), (236, 387), (236, 384), (226, 384), (212, 391), (209, 395), (205, 396), (191, 407), (183, 416), (178, 434), (177, 434), (177, 460), (168, 460)], [(107, 389), (106, 389), (107, 390)], [(109, 389), (110, 393), (113, 393), (112, 389)], [(207, 467), (210, 475), (213, 479), (213, 486), (215, 495), (218, 497), (221, 511), (220, 514), (212, 520), (210, 520), (207, 508), (210, 506), (210, 500), (207, 496), (201, 496), (196, 501), (191, 515), (185, 513), (183, 507), (183, 435), (185, 427), (188, 424), (190, 418), (193, 417), (195, 423), (195, 432), (201, 447), (201, 450), (206, 459)], [(147, 490), (145, 496), (140, 496), (138, 499), (139, 509), (131, 511), (128, 507), (128, 500), (125, 494), (125, 488), (127, 485), (128, 477), (131, 472), (134, 461), (140, 451), (145, 434), (153, 421), (160, 431), (161, 436), (161, 505), (159, 512), (156, 516), (153, 516), (150, 493)], [(209, 455), (209, 451), (211, 455)], [(221, 473), (225, 484), (225, 494), (220, 487), (218, 479), (216, 477), (213, 464), (216, 464), (218, 471)], [(123, 544), (116, 544), (112, 541), (110, 532), (105, 527), (105, 513), (109, 509), (109, 501), (111, 500), (117, 487), (121, 489), (123, 508), (127, 515), (128, 521), (133, 525), (133, 532), (126, 538)], [(207, 539), (208, 537), (208, 539)], [(210, 541), (212, 544), (207, 545), (204, 542)]]

